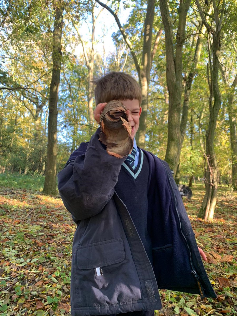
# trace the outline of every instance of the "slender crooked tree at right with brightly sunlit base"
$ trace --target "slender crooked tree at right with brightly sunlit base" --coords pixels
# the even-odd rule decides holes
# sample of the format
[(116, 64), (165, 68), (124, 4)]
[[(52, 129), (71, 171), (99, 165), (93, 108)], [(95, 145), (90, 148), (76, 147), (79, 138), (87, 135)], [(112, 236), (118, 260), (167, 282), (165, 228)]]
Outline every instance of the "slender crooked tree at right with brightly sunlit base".
[(209, 63), (207, 64), (207, 76), (209, 84), (209, 124), (206, 133), (206, 152), (205, 158), (207, 161), (205, 170), (205, 187), (206, 192), (203, 199), (201, 209), (198, 216), (203, 217), (205, 220), (212, 221), (216, 206), (217, 198), (217, 163), (214, 151), (214, 133), (216, 129), (216, 120), (221, 108), (221, 93), (218, 85), (218, 72), (219, 72), (219, 52), (221, 46), (221, 31), (222, 22), (224, 17), (225, 0), (222, 1), (222, 7), (216, 5), (216, 0), (212, 1), (213, 4), (213, 23), (210, 25), (205, 16), (207, 16), (199, 1), (196, 0), (197, 7), (202, 18), (203, 23), (208, 29), (208, 53)]

